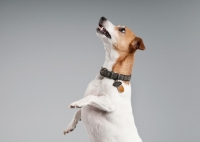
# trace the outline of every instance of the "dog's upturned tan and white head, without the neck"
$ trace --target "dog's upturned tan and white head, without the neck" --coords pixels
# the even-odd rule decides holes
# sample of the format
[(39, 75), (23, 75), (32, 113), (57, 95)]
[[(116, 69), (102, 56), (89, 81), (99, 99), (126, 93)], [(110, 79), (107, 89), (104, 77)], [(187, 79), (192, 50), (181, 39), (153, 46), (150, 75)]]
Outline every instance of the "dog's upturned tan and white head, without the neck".
[(97, 35), (103, 43), (114, 48), (118, 53), (135, 52), (137, 49), (144, 50), (145, 46), (141, 38), (125, 26), (115, 26), (105, 17), (101, 17), (97, 27)]

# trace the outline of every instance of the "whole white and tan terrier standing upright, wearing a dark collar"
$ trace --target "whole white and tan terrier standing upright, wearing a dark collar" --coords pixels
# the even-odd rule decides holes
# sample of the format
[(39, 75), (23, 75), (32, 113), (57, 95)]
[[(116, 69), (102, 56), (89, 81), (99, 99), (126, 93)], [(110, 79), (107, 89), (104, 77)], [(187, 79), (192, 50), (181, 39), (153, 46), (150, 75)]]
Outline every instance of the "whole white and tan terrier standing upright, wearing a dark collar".
[(131, 73), (134, 54), (144, 50), (141, 38), (125, 26), (115, 26), (101, 17), (96, 29), (106, 50), (100, 73), (88, 85), (84, 98), (69, 108), (79, 109), (64, 134), (82, 120), (92, 142), (142, 142), (131, 106)]

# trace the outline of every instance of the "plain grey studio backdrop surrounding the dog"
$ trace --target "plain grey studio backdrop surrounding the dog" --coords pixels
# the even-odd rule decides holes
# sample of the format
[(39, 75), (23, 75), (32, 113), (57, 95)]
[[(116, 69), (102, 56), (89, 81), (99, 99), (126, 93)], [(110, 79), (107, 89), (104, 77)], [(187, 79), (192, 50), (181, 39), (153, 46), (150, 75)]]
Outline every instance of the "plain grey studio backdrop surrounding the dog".
[(0, 141), (89, 141), (82, 123), (63, 130), (104, 62), (105, 16), (146, 45), (131, 80), (143, 141), (199, 142), (199, 14), (199, 0), (1, 0)]

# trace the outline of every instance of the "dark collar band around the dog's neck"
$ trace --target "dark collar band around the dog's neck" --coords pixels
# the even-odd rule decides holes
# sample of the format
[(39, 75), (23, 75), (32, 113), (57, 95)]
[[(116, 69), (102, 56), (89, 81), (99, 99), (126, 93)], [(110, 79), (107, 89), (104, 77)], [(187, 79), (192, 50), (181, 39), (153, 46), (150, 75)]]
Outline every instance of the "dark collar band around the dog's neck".
[(113, 79), (113, 80), (122, 80), (122, 81), (131, 80), (131, 75), (123, 75), (123, 74), (114, 73), (112, 71), (108, 71), (106, 68), (103, 68), (103, 67), (100, 70), (100, 75)]

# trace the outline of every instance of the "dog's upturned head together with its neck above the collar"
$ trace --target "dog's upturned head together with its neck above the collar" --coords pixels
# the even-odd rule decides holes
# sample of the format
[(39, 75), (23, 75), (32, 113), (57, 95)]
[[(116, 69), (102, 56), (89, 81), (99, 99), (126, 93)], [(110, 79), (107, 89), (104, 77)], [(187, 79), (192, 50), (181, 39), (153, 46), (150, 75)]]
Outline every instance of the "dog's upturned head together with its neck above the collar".
[(106, 50), (106, 61), (103, 67), (115, 73), (130, 75), (135, 51), (145, 49), (142, 39), (136, 37), (129, 28), (115, 26), (105, 17), (100, 18), (96, 30)]

